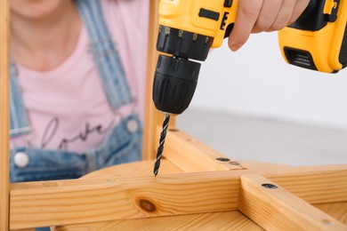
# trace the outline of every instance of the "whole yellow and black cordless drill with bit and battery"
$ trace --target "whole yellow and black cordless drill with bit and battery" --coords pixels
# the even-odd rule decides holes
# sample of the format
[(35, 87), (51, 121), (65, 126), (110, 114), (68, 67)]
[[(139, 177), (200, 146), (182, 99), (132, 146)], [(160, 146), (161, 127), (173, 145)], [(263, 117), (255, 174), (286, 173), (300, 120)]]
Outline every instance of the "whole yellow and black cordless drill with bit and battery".
[[(169, 116), (190, 105), (200, 63), (211, 47), (222, 45), (233, 28), (238, 0), (161, 0), (159, 55), (153, 101), (165, 113), (154, 174), (160, 165)], [(290, 64), (323, 72), (347, 66), (347, 1), (311, 0), (301, 17), (278, 33), (278, 43)]]

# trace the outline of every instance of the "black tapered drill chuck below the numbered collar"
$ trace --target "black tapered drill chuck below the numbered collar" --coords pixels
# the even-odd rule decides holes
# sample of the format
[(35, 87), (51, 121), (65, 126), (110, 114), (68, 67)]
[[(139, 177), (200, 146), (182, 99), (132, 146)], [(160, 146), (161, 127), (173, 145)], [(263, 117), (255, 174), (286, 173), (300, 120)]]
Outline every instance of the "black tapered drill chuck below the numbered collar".
[(198, 84), (200, 63), (159, 55), (153, 83), (153, 101), (165, 114), (182, 114)]

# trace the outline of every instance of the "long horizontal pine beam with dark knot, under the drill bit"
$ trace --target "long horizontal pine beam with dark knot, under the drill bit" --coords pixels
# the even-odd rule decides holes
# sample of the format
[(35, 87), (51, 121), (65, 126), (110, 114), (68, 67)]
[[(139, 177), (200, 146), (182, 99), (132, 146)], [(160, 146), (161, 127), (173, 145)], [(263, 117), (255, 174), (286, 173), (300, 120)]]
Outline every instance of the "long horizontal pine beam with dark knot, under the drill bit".
[[(347, 201), (347, 185), (339, 184), (347, 182), (347, 165), (194, 172), (160, 175), (157, 178), (29, 182), (11, 185), (10, 227), (237, 210), (239, 178), (245, 174), (272, 176), (277, 183), (286, 184), (287, 190), (294, 187), (303, 199), (321, 203)], [(300, 174), (305, 178), (297, 178)], [(281, 180), (281, 175), (284, 180)], [(295, 185), (290, 180), (291, 175), (295, 178)], [(142, 209), (143, 203), (153, 204), (149, 206), (152, 211)]]

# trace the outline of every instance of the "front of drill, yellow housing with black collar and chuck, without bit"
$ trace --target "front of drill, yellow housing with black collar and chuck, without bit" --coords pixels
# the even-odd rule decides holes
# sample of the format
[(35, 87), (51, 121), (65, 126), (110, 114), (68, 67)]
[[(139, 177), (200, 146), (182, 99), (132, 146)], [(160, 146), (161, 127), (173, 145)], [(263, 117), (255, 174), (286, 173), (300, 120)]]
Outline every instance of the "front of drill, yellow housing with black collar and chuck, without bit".
[(229, 36), (238, 1), (161, 0), (159, 55), (153, 83), (153, 101), (165, 114), (181, 114), (190, 104), (198, 83), (200, 63), (211, 47)]

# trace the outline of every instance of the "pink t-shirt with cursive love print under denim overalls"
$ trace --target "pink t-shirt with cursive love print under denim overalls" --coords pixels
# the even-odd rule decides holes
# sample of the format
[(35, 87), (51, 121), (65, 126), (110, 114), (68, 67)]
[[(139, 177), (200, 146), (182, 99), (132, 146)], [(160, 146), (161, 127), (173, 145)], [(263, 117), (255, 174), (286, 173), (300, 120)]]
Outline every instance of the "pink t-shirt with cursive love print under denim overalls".
[(11, 139), (12, 147), (44, 147), (82, 152), (99, 147), (121, 118), (138, 112), (143, 118), (149, 0), (102, 0), (135, 102), (109, 107), (83, 27), (75, 51), (47, 72), (18, 65), (20, 88), (32, 131)]

